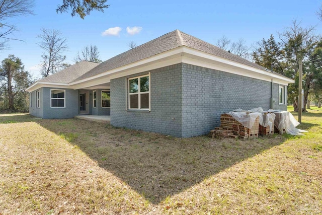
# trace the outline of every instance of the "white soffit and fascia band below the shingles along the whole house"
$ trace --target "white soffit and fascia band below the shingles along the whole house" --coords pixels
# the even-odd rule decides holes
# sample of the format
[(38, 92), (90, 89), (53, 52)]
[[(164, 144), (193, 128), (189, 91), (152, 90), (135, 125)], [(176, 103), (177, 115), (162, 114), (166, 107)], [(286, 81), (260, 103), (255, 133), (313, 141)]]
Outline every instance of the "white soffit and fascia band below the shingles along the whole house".
[(96, 76), (72, 82), (69, 84), (36, 82), (26, 90), (34, 91), (41, 87), (61, 87), (66, 89), (92, 89), (93, 86), (109, 83), (111, 79), (129, 76), (144, 71), (169, 66), (177, 63), (188, 63), (201, 67), (225, 71), (226, 73), (246, 76), (254, 79), (264, 80), (274, 83), (288, 85), (294, 83), (294, 80), (279, 76), (268, 71), (257, 69), (252, 66), (237, 63), (225, 58), (217, 57), (202, 51), (195, 50), (186, 46), (178, 48), (115, 68)]

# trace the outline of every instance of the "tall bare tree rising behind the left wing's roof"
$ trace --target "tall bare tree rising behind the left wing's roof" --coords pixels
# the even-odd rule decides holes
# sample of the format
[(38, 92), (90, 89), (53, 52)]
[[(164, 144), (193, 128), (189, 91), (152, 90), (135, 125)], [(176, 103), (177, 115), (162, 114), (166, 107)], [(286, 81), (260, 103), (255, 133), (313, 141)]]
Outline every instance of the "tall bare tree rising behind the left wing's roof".
[(68, 49), (67, 39), (61, 37), (62, 33), (58, 30), (42, 29), (42, 35), (38, 35), (41, 42), (38, 45), (44, 50), (41, 62), (41, 76), (47, 77), (64, 68), (66, 56), (63, 54)]

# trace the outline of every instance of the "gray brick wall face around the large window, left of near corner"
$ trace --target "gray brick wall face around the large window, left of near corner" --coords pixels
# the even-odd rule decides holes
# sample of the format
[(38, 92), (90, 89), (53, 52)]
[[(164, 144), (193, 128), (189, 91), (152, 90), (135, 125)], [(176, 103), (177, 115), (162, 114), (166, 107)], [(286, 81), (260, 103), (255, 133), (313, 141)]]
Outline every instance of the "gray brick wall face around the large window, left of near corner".
[(150, 71), (151, 111), (126, 110), (127, 78), (111, 80), (111, 124), (173, 136), (182, 135), (182, 66), (175, 64)]

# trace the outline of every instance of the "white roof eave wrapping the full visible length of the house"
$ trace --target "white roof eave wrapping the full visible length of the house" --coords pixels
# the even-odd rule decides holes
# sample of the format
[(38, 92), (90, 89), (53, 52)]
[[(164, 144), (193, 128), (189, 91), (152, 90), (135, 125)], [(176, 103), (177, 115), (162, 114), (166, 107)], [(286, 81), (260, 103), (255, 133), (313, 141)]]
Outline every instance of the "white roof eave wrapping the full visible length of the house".
[[(221, 65), (225, 65), (225, 66), (230, 66), (231, 68), (238, 68), (244, 71), (248, 71), (249, 74), (253, 73), (253, 75), (255, 76), (248, 76), (247, 74), (244, 74), (244, 76), (248, 76), (248, 77), (252, 77), (252, 78), (257, 78), (256, 74), (258, 76), (262, 76), (262, 77), (266, 77), (265, 80), (268, 81), (268, 78), (271, 78), (272, 80), (274, 80), (275, 82), (279, 82), (282, 84), (292, 84), (294, 83), (294, 80), (289, 79), (287, 77), (281, 76), (281, 75), (276, 75), (274, 73), (271, 73), (269, 71), (265, 71), (265, 70), (261, 70), (249, 65), (245, 65), (242, 63), (238, 63), (232, 60), (228, 60), (226, 58), (222, 58), (222, 57), (218, 57), (215, 56), (213, 54), (209, 54), (203, 51), (199, 51), (193, 48), (190, 48), (188, 46), (179, 46), (177, 48), (111, 69), (111, 70), (107, 70), (104, 73), (83, 79), (83, 80), (79, 80), (76, 82), (70, 82), (68, 84), (66, 83), (54, 83), (54, 82), (40, 82), (37, 81), (35, 82), (32, 86), (30, 86), (29, 88), (26, 89), (26, 91), (31, 92), (34, 91), (40, 87), (45, 87), (45, 86), (57, 86), (57, 87), (62, 87), (62, 88), (71, 88), (71, 89), (80, 89), (82, 87), (85, 87), (84, 83), (86, 83), (86, 87), (89, 87), (92, 82), (95, 83), (96, 85), (99, 83), (98, 80), (104, 80), (104, 81), (109, 81), (110, 77), (121, 77), (121, 76), (116, 76), (116, 74), (123, 74), (124, 76), (126, 75), (126, 73), (124, 73), (124, 71), (128, 71), (128, 70), (133, 70), (133, 68), (136, 68), (133, 70), (133, 72), (135, 71), (136, 73), (139, 73), (139, 68), (140, 67), (144, 67), (147, 68), (146, 65), (155, 65), (155, 66), (160, 66), (160, 62), (166, 61), (171, 59), (171, 57), (176, 57), (178, 58), (178, 56), (181, 57), (181, 60), (179, 60), (178, 62), (184, 62), (184, 57), (190, 57), (190, 58), (194, 58), (194, 59), (198, 59), (199, 61), (202, 62), (211, 62), (212, 64), (221, 64)], [(200, 64), (200, 66), (203, 66), (202, 64)], [(153, 66), (148, 67), (149, 69), (153, 69)], [(223, 71), (226, 71), (229, 73), (229, 71), (225, 70), (225, 69), (221, 69)], [(237, 73), (236, 73), (237, 74)], [(243, 74), (238, 74), (238, 75), (242, 75)], [(264, 80), (264, 79), (262, 79)]]

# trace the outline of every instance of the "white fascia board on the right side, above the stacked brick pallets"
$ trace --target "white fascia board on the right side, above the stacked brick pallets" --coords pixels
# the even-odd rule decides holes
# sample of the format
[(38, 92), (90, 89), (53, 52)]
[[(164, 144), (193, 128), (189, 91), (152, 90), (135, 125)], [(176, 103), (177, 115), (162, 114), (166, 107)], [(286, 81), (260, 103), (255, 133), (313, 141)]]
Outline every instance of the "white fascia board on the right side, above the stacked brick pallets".
[[(258, 68), (255, 68), (255, 67), (252, 67), (252, 66), (248, 66), (248, 65), (245, 65), (245, 64), (242, 64), (242, 63), (238, 63), (238, 62), (235, 62), (235, 61), (231, 61), (231, 60), (228, 60), (228, 59), (225, 59), (225, 58), (221, 58), (221, 57), (218, 57), (218, 56), (214, 56), (212, 54), (208, 54), (206, 52), (203, 52), (203, 51), (198, 51), (196, 49), (193, 49), (193, 48), (189, 48), (189, 47), (184, 47), (184, 52), (185, 52), (185, 56), (190, 56), (191, 58), (196, 58), (196, 59), (203, 59), (203, 61), (215, 61), (215, 62), (219, 62), (219, 63), (222, 63), (222, 64), (225, 64), (226, 66), (225, 67), (237, 67), (237, 68), (241, 68), (243, 69), (244, 71), (248, 70), (248, 71), (252, 71), (253, 72), (253, 76), (252, 78), (255, 78), (255, 79), (259, 79), (259, 78), (263, 78), (263, 77), (270, 77), (270, 79), (273, 79), (273, 82), (274, 80), (277, 82), (283, 82), (284, 84), (291, 84), (291, 83), (294, 83), (294, 80), (292, 79), (289, 79), (287, 77), (283, 77), (283, 76), (279, 76), (279, 75), (276, 75), (274, 73), (270, 73), (269, 71), (265, 71), (265, 70), (261, 70), (261, 69), (258, 69)], [(225, 71), (225, 70), (223, 70)], [(228, 73), (231, 73), (231, 71), (227, 71)], [(235, 72), (234, 72), (235, 73)], [(246, 75), (244, 73), (235, 73), (237, 75)], [(260, 76), (259, 76), (260, 75)]]

